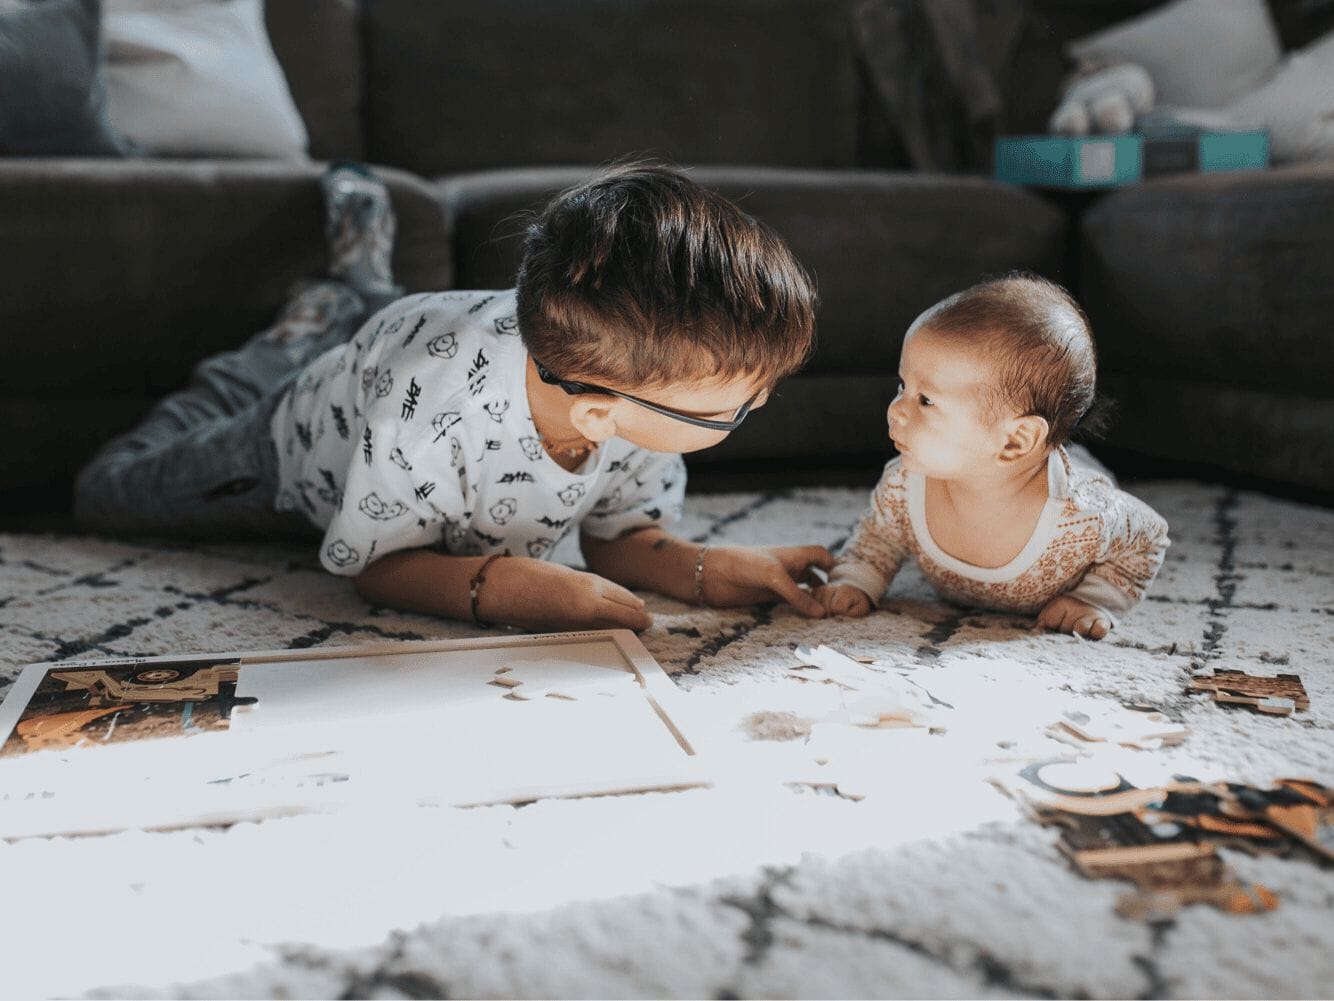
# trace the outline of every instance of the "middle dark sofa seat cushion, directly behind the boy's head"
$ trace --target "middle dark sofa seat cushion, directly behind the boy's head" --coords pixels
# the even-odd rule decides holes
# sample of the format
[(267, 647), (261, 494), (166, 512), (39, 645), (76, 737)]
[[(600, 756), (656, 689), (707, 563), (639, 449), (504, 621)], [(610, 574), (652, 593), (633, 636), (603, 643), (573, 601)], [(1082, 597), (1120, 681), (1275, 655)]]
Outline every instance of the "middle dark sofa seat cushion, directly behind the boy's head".
[[(460, 287), (514, 284), (526, 214), (590, 168), (488, 171), (439, 183)], [(807, 371), (891, 372), (927, 306), (1013, 268), (1059, 280), (1066, 218), (987, 180), (886, 171), (699, 167), (691, 176), (772, 226), (819, 287)]]

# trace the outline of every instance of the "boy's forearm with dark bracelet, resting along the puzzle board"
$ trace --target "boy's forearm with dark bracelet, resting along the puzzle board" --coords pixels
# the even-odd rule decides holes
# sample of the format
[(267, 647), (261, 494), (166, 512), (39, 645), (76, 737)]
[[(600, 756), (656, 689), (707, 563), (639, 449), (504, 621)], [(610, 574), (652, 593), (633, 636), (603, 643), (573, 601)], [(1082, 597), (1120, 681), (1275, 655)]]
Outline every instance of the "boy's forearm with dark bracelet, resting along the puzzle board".
[[(426, 549), (399, 550), (355, 579), (372, 605), (472, 621), (471, 582), (487, 557), (450, 557)], [(526, 630), (647, 629), (643, 599), (620, 585), (560, 563), (502, 557), (486, 569), (478, 590), (482, 622)]]

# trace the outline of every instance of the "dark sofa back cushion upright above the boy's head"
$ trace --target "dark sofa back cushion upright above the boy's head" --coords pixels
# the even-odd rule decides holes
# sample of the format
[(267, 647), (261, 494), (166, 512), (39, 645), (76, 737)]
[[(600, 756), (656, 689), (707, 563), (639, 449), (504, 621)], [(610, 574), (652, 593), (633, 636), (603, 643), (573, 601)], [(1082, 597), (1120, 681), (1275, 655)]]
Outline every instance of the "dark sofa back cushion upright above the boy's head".
[(376, 0), (364, 17), (376, 163), (854, 163), (843, 0)]

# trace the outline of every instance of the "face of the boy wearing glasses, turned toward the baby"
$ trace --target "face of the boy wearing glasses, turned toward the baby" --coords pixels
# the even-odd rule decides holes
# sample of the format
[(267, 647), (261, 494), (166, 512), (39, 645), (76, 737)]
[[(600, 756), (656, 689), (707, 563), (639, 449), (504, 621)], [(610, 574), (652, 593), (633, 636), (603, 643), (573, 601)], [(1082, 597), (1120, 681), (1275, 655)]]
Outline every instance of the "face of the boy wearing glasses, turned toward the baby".
[[(750, 410), (752, 411), (768, 402), (767, 388), (754, 375), (714, 378), (646, 390), (624, 388), (620, 386), (612, 388), (639, 396), (660, 407), (708, 420), (730, 420), (747, 402), (750, 402)], [(620, 396), (583, 399), (606, 400), (606, 403), (598, 407), (598, 411), (606, 414), (606, 419), (610, 422), (608, 430), (614, 427), (612, 434), (618, 438), (623, 438), (631, 444), (638, 444), (640, 448), (651, 451), (694, 452), (718, 444), (731, 434), (730, 431), (696, 427)], [(583, 422), (575, 420), (576, 426), (580, 423)], [(588, 430), (584, 430), (584, 434), (594, 440), (602, 440), (607, 436), (590, 434)]]

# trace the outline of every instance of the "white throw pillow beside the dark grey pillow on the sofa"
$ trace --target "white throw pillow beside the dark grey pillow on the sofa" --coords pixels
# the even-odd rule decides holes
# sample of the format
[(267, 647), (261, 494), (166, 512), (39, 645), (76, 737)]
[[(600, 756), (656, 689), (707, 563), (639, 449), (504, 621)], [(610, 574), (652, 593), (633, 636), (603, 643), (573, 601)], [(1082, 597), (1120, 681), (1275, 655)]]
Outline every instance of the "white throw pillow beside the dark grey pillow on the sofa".
[(168, 156), (305, 156), (261, 0), (107, 0), (107, 111)]

